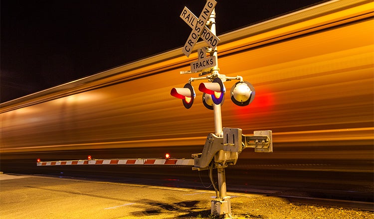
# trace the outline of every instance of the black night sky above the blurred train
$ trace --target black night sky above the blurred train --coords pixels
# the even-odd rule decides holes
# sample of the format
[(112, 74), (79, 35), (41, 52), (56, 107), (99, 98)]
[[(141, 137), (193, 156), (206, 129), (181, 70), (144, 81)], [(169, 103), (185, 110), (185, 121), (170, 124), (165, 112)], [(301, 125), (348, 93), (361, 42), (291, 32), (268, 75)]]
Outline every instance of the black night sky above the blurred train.
[[(323, 2), (216, 1), (217, 35)], [(179, 16), (184, 6), (198, 16), (205, 0), (1, 0), (0, 4), (0, 103), (4, 103), (182, 47), (191, 28)]]

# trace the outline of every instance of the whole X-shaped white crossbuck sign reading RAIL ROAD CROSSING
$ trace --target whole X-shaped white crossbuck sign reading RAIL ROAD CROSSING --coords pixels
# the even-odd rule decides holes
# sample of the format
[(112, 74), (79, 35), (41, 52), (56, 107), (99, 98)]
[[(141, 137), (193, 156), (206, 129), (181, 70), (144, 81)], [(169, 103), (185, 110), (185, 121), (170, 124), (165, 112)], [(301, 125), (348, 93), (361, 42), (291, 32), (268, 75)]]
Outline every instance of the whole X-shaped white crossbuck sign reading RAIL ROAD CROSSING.
[(205, 26), (216, 3), (215, 0), (207, 0), (198, 18), (188, 10), (187, 7), (183, 9), (180, 17), (192, 28), (182, 50), (187, 57), (191, 54), (192, 48), (200, 36), (212, 49), (214, 49), (219, 42), (218, 37), (216, 37), (209, 28)]

